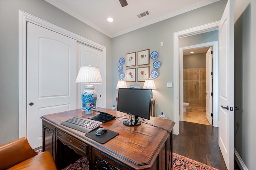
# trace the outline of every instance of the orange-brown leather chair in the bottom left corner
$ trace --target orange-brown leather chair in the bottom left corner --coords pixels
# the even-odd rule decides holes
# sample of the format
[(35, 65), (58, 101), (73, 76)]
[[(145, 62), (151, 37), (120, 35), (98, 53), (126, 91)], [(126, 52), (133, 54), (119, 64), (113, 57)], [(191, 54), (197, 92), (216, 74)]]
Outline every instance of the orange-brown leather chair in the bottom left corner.
[(0, 170), (57, 170), (52, 154), (37, 154), (27, 138), (0, 145)]

